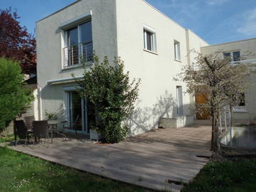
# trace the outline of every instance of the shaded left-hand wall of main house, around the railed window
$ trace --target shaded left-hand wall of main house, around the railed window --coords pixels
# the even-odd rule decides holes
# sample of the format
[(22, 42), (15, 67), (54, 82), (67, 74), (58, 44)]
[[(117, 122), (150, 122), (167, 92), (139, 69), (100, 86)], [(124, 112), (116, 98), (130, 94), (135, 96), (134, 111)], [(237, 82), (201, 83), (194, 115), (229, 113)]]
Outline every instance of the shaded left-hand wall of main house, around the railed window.
[(58, 112), (62, 117), (64, 106), (63, 87), (47, 85), (49, 80), (59, 80), (82, 75), (82, 68), (62, 70), (63, 30), (61, 23), (92, 13), (92, 41), (97, 55), (103, 58), (117, 55), (115, 1), (82, 0), (52, 14), (36, 26), (38, 86), (41, 95), (41, 119), (48, 112)]

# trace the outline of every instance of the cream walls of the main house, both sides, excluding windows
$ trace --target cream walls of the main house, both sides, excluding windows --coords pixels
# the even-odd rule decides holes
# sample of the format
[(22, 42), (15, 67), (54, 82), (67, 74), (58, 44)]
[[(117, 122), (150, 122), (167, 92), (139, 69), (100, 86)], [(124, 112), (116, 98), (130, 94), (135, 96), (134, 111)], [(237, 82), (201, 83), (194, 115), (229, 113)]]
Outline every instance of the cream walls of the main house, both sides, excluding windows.
[[(137, 110), (129, 121), (132, 135), (158, 127), (159, 117), (176, 117), (176, 86), (183, 88), (183, 115), (193, 99), (183, 82), (173, 80), (188, 58), (192, 48), (208, 45), (189, 30), (179, 26), (142, 0), (80, 0), (37, 23), (38, 86), (41, 118), (45, 112), (56, 112), (65, 119), (65, 92), (72, 83), (47, 85), (49, 80), (82, 75), (82, 68), (62, 70), (63, 31), (61, 23), (92, 12), (93, 47), (100, 58), (120, 56), (131, 78), (141, 78)], [(157, 54), (144, 50), (143, 29), (156, 31)], [(174, 40), (181, 46), (181, 61), (174, 60)]]

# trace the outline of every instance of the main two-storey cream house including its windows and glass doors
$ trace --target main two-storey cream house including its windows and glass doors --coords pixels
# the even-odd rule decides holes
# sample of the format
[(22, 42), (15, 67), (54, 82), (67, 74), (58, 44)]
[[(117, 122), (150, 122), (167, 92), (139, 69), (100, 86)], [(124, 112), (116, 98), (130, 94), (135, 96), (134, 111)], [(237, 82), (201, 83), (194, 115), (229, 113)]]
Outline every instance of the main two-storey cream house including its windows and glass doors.
[(174, 127), (193, 123), (194, 99), (173, 78), (193, 63), (190, 50), (208, 43), (146, 1), (78, 0), (38, 21), (36, 31), (40, 119), (57, 113), (89, 133), (91, 105), (75, 92), (71, 74), (82, 78), (81, 57), (90, 70), (95, 50), (101, 60), (121, 57), (130, 77), (142, 80), (134, 116), (126, 122), (132, 135), (158, 128), (162, 118)]

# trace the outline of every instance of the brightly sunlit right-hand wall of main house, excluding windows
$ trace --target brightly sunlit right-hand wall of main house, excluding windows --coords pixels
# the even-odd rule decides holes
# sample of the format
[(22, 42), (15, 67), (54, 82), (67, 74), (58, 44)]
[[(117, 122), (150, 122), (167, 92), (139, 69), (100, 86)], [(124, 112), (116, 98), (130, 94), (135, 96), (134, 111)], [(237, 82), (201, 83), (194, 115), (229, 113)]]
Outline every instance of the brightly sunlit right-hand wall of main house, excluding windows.
[[(157, 54), (144, 50), (144, 26), (156, 31)], [(191, 33), (191, 32), (188, 32)], [(191, 33), (191, 48), (208, 45)], [(181, 46), (181, 62), (174, 60), (174, 40)], [(173, 78), (188, 64), (186, 29), (145, 1), (117, 0), (117, 50), (131, 78), (141, 78), (139, 103), (132, 121), (132, 134), (158, 127), (159, 117), (176, 117), (176, 86)], [(191, 98), (183, 94), (183, 114), (190, 115)]]

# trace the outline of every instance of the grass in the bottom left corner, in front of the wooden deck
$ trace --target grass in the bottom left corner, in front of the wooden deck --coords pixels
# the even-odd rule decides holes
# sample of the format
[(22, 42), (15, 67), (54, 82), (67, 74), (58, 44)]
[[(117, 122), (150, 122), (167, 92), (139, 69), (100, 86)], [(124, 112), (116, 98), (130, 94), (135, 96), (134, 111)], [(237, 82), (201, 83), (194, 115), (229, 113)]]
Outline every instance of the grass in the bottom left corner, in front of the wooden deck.
[(0, 191), (146, 191), (0, 147)]

